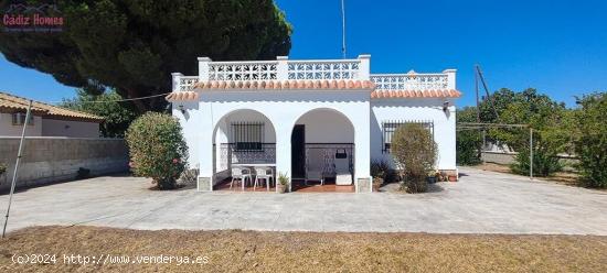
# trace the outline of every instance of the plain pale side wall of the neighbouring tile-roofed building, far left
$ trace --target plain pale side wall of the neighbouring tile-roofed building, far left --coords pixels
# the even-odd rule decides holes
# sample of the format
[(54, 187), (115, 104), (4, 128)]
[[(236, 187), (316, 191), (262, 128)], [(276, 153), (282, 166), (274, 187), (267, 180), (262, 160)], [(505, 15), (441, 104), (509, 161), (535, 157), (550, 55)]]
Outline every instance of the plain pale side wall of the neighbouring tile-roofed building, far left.
[(43, 136), (99, 138), (99, 123), (42, 119)]

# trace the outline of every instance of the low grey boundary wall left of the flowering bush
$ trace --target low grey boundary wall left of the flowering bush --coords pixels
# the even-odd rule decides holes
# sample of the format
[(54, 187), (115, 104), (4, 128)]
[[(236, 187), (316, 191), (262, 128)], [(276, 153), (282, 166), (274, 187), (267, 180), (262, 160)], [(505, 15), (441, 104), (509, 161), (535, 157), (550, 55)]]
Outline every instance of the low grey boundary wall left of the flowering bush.
[[(10, 188), (20, 138), (0, 136), (0, 190)], [(128, 149), (121, 139), (81, 139), (61, 136), (25, 138), (19, 163), (18, 187), (75, 179), (78, 170), (90, 175), (128, 171)]]

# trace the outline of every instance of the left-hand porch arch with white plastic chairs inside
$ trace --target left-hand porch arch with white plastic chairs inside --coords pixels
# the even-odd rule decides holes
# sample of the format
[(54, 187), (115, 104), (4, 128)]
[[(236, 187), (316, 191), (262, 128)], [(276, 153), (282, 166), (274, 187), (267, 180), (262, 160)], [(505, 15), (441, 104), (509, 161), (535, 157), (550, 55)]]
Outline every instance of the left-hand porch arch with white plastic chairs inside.
[[(276, 186), (275, 167), (276, 131), (266, 116), (239, 109), (217, 121), (213, 132), (214, 189), (270, 190)], [(270, 178), (259, 178), (256, 184), (260, 173)]]

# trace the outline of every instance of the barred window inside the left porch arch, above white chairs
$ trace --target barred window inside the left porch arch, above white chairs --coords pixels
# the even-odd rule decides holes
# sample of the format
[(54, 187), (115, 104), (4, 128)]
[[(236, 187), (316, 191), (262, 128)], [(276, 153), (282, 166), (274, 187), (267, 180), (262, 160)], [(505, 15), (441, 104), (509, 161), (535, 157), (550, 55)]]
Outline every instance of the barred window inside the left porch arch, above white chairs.
[(232, 139), (235, 151), (262, 151), (264, 122), (232, 122)]

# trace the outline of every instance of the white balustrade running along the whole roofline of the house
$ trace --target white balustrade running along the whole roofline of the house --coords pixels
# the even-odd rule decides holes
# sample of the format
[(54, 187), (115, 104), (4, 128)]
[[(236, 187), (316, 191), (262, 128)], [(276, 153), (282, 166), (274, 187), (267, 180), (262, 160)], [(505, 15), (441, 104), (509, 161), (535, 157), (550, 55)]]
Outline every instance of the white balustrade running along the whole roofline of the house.
[(212, 62), (199, 57), (199, 76), (173, 73), (173, 90), (188, 91), (199, 81), (245, 80), (372, 80), (377, 90), (444, 90), (456, 89), (455, 69), (443, 73), (370, 74), (370, 55), (354, 59)]

